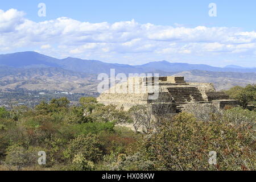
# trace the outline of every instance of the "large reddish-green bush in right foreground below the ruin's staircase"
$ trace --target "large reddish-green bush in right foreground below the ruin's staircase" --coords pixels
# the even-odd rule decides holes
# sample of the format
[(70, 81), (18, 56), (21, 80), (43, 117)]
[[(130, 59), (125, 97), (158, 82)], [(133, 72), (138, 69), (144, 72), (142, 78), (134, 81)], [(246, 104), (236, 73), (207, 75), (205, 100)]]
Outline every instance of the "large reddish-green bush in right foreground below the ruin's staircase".
[[(255, 131), (228, 121), (199, 122), (181, 113), (142, 142), (141, 151), (160, 170), (255, 170)], [(208, 163), (217, 152), (217, 165)]]

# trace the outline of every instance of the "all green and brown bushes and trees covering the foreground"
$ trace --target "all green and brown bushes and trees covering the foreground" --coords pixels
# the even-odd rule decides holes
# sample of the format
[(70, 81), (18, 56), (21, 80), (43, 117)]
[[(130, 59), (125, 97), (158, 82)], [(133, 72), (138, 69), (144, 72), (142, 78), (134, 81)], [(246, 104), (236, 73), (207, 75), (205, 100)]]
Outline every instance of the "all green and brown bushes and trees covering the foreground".
[[(1, 107), (0, 168), (255, 170), (255, 111), (226, 107), (205, 115), (194, 108), (197, 117), (160, 118), (150, 107), (124, 111), (92, 97), (81, 98), (80, 106), (60, 98), (34, 109)], [(131, 122), (143, 132), (118, 125)], [(47, 154), (46, 166), (37, 164), (39, 151)], [(208, 164), (209, 151), (217, 152), (216, 166)]]

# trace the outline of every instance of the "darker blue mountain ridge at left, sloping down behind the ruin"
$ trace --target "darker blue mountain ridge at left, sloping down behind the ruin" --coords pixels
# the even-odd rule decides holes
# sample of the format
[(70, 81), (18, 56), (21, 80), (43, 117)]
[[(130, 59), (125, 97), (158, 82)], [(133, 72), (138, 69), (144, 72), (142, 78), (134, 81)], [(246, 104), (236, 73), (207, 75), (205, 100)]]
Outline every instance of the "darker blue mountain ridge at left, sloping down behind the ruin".
[(0, 55), (0, 65), (12, 68), (63, 68), (69, 71), (84, 73), (110, 73), (115, 69), (117, 73), (142, 73), (143, 69), (134, 68), (126, 64), (110, 64), (97, 60), (82, 60), (73, 57), (56, 59), (37, 52), (18, 52)]

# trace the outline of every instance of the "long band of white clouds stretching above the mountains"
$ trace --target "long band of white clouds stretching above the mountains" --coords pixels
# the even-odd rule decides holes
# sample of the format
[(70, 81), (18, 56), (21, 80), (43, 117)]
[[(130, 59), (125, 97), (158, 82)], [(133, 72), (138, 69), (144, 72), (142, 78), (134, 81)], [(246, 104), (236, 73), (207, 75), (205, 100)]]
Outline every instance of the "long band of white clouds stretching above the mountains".
[(241, 28), (157, 26), (135, 20), (90, 23), (66, 17), (33, 22), (24, 15), (14, 9), (0, 10), (0, 51), (34, 47), (56, 57), (69, 53), (90, 59), (111, 57), (122, 63), (127, 57), (138, 63), (151, 59), (193, 61), (204, 56), (220, 61), (240, 56), (255, 60), (256, 32), (243, 32)]

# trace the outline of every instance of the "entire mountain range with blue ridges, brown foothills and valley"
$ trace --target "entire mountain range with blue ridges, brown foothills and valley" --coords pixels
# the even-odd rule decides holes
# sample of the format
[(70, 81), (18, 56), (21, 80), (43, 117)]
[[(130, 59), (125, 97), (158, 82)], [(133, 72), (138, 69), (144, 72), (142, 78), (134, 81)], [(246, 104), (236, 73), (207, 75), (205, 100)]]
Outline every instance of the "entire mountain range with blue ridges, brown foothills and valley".
[(97, 92), (99, 73), (159, 73), (185, 76), (186, 81), (213, 82), (217, 90), (256, 84), (256, 68), (229, 65), (225, 68), (205, 64), (151, 62), (143, 65), (111, 64), (73, 57), (56, 59), (37, 52), (0, 55), (0, 89), (63, 90)]

